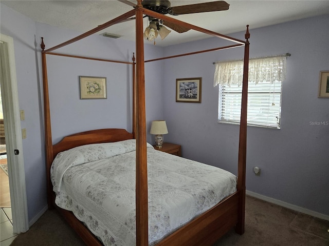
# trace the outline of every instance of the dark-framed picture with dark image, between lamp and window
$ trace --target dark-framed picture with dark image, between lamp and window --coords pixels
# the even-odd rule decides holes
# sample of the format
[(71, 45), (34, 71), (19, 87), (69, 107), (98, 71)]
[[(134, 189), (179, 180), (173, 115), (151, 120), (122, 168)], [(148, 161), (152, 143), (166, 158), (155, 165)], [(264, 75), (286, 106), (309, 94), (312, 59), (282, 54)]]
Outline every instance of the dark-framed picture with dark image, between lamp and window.
[(179, 103), (201, 103), (202, 78), (177, 78), (176, 101)]

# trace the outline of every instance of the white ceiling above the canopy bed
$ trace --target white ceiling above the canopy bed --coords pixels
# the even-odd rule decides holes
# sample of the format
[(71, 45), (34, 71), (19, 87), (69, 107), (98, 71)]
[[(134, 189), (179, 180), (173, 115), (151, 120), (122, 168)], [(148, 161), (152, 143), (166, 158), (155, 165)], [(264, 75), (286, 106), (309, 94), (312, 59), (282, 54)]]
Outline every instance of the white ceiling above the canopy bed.
[[(130, 2), (136, 3), (135, 0)], [(190, 1), (171, 0), (171, 6), (214, 2), (214, 0)], [(221, 34), (229, 34), (288, 22), (311, 16), (329, 14), (329, 1), (237, 1), (227, 0), (229, 10), (185, 14), (171, 17)], [(108, 22), (132, 9), (131, 6), (116, 0), (109, 1), (1, 1), (2, 4), (20, 12), (35, 22), (45, 23), (54, 27), (67, 28), (86, 32)], [(148, 25), (144, 20), (144, 28)], [(132, 31), (133, 30), (133, 31)], [(109, 32), (122, 35), (122, 39), (135, 40), (135, 22), (120, 23), (100, 33)], [(306, 30), (305, 30), (306, 31)], [(169, 46), (209, 37), (194, 30), (186, 33), (172, 31), (165, 39), (159, 37), (157, 46)], [(243, 37), (242, 37), (243, 38)], [(153, 44), (153, 42), (147, 42)]]

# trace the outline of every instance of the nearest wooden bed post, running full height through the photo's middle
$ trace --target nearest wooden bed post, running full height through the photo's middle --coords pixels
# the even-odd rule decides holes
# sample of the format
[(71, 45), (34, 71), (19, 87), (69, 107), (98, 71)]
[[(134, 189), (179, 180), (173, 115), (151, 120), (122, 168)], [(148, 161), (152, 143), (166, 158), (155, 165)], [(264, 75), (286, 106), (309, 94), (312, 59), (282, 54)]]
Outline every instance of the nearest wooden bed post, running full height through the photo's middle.
[(148, 169), (145, 114), (143, 9), (141, 0), (136, 6), (136, 245), (149, 245), (148, 226)]

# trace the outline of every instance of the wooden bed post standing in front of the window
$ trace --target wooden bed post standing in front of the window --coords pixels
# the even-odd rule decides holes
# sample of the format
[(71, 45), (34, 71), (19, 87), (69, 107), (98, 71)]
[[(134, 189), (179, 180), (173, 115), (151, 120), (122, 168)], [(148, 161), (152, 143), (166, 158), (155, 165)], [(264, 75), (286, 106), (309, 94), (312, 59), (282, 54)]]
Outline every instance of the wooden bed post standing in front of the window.
[(249, 67), (249, 25), (245, 34), (246, 44), (243, 65), (242, 103), (239, 138), (239, 160), (237, 163), (237, 190), (239, 194), (238, 222), (235, 231), (243, 234), (245, 231), (246, 206), (246, 155), (247, 155), (247, 103), (248, 103), (248, 67)]

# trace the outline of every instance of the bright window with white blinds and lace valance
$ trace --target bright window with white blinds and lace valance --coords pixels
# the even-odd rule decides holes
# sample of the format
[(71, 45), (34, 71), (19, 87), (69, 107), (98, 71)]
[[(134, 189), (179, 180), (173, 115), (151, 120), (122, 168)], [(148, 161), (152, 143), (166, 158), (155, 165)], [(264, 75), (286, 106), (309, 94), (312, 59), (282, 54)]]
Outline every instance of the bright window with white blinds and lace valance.
[[(247, 124), (280, 129), (282, 81), (286, 56), (249, 60)], [(220, 84), (218, 122), (240, 124), (243, 61), (216, 63), (214, 86)]]

